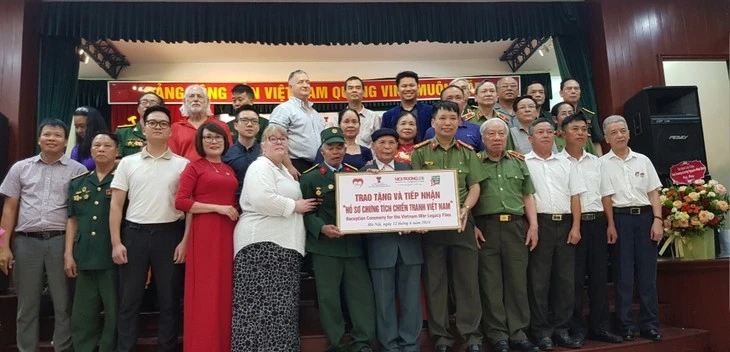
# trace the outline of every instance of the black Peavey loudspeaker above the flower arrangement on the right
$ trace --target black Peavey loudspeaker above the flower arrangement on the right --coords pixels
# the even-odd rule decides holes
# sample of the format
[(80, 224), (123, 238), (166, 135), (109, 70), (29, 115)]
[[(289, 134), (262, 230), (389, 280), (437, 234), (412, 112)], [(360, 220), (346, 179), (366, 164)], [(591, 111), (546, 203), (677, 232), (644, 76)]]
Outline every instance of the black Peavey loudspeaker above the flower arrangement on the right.
[(649, 157), (660, 178), (681, 161), (707, 165), (697, 87), (643, 88), (624, 104), (624, 117), (629, 147)]

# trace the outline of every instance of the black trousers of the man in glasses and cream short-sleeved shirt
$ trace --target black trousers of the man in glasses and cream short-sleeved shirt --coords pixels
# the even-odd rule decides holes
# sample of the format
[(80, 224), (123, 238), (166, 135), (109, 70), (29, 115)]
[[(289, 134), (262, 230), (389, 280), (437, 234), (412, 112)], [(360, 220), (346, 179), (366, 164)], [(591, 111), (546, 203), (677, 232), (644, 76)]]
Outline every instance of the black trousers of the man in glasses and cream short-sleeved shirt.
[(177, 350), (184, 266), (175, 264), (173, 256), (184, 231), (184, 221), (167, 224), (127, 222), (122, 230), (127, 264), (119, 267), (119, 352), (136, 349), (137, 317), (150, 266), (160, 301), (158, 350)]

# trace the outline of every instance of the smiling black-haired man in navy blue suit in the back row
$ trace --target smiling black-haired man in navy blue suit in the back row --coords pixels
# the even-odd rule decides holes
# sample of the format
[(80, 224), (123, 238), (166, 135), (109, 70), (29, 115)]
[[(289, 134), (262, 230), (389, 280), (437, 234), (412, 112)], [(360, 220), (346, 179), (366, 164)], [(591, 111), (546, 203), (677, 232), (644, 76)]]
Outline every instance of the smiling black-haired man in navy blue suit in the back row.
[(416, 117), (418, 125), (416, 140), (422, 140), (426, 130), (431, 127), (431, 105), (419, 103), (418, 74), (413, 71), (403, 71), (395, 76), (395, 85), (398, 87), (400, 104), (383, 114), (381, 127), (395, 128), (398, 118), (404, 111)]

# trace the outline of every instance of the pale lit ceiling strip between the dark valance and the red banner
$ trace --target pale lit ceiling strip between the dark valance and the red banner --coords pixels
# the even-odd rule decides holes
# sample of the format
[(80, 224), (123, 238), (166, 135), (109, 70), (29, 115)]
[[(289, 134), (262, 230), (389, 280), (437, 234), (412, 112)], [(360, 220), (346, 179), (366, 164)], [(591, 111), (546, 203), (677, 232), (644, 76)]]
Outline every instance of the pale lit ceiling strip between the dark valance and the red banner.
[[(152, 43), (113, 42), (120, 53), (127, 57), (131, 66), (123, 70), (134, 72), (135, 64), (200, 64), (200, 63), (276, 63), (276, 62), (408, 62), (441, 61), (458, 62), (479, 59), (496, 63), (510, 72), (499, 57), (509, 48), (511, 41), (482, 43), (431, 43), (414, 42), (394, 45), (264, 45), (233, 43)], [(546, 47), (551, 45), (548, 42)], [(79, 78), (108, 79), (98, 65), (90, 61), (81, 64)], [(557, 60), (552, 52), (544, 56), (533, 55), (519, 72), (558, 73)]]

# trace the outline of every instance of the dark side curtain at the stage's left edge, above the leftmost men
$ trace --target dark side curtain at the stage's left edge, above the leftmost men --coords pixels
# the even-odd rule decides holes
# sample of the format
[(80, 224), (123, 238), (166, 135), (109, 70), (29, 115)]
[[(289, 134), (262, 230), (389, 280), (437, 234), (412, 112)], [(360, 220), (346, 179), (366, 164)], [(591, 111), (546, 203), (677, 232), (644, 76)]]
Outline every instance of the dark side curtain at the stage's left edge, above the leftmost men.
[(38, 75), (38, 117), (59, 119), (71, 124), (76, 107), (79, 77), (78, 39), (41, 37), (41, 62)]

